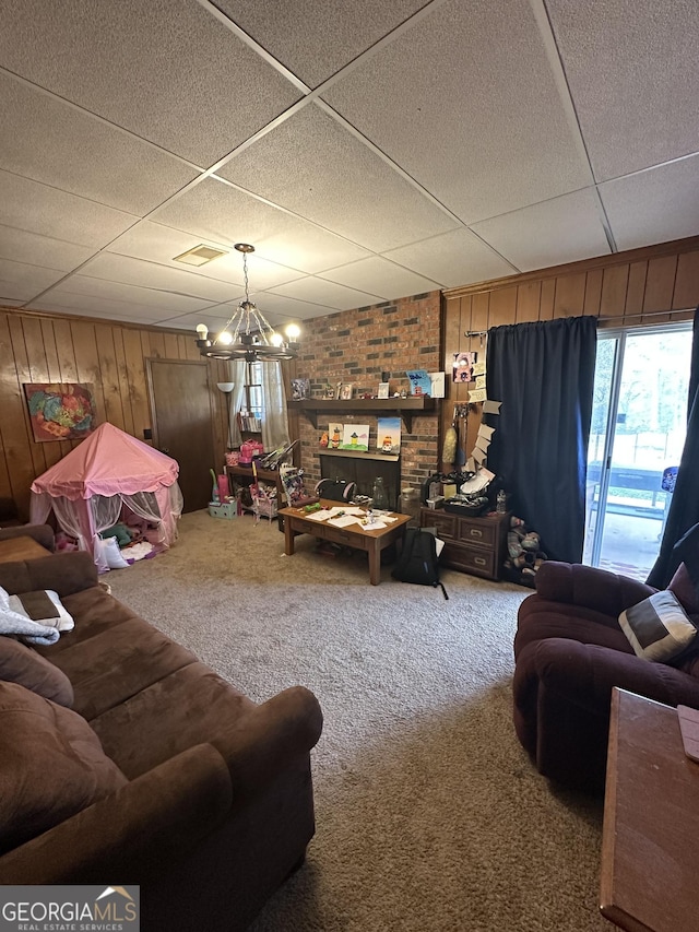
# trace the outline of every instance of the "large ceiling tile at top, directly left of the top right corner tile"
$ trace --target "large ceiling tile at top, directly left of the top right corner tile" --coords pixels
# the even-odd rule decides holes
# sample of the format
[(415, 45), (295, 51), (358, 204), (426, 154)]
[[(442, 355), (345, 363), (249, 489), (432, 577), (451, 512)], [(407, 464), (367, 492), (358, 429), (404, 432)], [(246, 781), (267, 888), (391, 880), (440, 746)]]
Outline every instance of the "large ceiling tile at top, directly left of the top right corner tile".
[(528, 0), (436, 7), (322, 96), (466, 223), (592, 180)]

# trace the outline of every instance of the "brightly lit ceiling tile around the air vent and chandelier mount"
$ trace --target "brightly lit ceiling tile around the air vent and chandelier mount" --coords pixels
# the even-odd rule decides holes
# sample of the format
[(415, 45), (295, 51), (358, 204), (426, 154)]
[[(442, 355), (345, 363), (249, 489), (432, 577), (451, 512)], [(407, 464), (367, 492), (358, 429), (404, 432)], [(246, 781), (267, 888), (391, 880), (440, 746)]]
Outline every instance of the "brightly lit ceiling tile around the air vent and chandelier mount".
[[(161, 266), (171, 266), (174, 269), (187, 270), (192, 267), (182, 266), (175, 261), (175, 256), (181, 256), (188, 249), (197, 246), (212, 246), (214, 249), (226, 249), (227, 255), (214, 259), (206, 266), (197, 269), (198, 275), (209, 279), (218, 279), (229, 282), (242, 288), (242, 255), (237, 252), (230, 244), (204, 240), (202, 237), (182, 233), (159, 223), (142, 221), (132, 226), (118, 239), (115, 239), (107, 249), (108, 252), (117, 252), (120, 256), (131, 256), (133, 259), (144, 259), (149, 262), (157, 262)], [(304, 273), (296, 269), (280, 266), (262, 259), (257, 252), (248, 256), (248, 269), (251, 282), (256, 287), (266, 288), (281, 285), (284, 282), (293, 282), (303, 278)]]

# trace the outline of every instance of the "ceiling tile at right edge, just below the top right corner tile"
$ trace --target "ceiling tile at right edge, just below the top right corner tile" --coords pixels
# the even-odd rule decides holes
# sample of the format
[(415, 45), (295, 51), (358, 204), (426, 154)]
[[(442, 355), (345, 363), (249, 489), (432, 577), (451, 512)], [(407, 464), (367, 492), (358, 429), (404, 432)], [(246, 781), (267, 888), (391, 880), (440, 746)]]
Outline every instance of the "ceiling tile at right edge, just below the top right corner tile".
[(699, 235), (699, 156), (600, 185), (619, 249)]

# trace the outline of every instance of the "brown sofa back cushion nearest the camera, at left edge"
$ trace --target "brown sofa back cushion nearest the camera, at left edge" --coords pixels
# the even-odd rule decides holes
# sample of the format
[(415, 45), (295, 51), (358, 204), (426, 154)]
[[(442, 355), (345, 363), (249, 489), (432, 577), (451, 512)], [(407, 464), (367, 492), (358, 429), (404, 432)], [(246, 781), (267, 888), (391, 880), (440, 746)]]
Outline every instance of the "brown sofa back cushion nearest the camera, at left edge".
[(127, 782), (79, 715), (0, 683), (0, 853)]

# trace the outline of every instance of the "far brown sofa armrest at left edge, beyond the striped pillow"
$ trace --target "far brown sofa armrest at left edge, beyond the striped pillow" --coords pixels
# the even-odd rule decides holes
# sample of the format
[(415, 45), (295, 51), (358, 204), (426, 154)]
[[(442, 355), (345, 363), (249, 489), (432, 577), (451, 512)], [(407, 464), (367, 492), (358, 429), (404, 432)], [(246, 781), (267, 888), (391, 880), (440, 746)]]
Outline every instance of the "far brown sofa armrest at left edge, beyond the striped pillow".
[(37, 589), (54, 589), (61, 597), (72, 595), (73, 592), (91, 589), (98, 580), (95, 561), (86, 551), (0, 563), (0, 586), (12, 595)]

